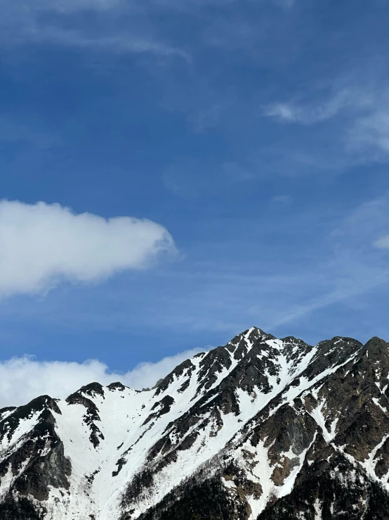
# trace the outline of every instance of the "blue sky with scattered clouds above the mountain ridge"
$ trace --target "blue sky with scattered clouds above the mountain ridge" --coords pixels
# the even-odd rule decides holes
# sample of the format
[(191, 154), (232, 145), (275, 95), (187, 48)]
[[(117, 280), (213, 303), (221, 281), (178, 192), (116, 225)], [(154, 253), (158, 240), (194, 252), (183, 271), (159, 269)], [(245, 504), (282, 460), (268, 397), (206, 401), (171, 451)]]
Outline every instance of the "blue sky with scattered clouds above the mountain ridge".
[(388, 0), (2, 1), (0, 404), (149, 386), (254, 325), (389, 340), (388, 24)]

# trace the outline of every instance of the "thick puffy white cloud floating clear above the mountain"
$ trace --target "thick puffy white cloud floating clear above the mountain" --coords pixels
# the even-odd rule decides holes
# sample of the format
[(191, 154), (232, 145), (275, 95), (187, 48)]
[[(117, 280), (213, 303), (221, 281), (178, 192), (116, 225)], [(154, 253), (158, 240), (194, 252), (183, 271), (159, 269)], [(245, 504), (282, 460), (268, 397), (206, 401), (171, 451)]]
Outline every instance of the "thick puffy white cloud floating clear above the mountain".
[(150, 220), (0, 201), (1, 296), (45, 292), (64, 279), (99, 281), (174, 251), (169, 232)]

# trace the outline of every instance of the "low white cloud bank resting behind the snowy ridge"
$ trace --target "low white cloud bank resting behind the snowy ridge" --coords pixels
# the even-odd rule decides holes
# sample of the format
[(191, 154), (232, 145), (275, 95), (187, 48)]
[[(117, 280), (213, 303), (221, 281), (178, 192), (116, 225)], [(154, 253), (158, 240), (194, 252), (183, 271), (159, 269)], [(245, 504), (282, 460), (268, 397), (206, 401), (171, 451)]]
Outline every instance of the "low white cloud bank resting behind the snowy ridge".
[(81, 386), (95, 381), (103, 385), (120, 381), (137, 390), (150, 388), (178, 364), (199, 352), (204, 349), (185, 350), (155, 363), (143, 362), (126, 373), (110, 372), (107, 365), (98, 360), (77, 363), (13, 357), (0, 362), (0, 408), (24, 405), (44, 394), (66, 398)]

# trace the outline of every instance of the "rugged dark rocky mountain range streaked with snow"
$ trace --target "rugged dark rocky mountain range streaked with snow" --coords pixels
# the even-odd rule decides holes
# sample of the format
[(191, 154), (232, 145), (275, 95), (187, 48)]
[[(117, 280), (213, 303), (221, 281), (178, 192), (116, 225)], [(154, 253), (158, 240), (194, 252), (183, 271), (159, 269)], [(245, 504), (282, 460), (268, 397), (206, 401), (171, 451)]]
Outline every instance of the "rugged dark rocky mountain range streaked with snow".
[(152, 390), (0, 410), (0, 520), (389, 520), (389, 344), (253, 327)]

